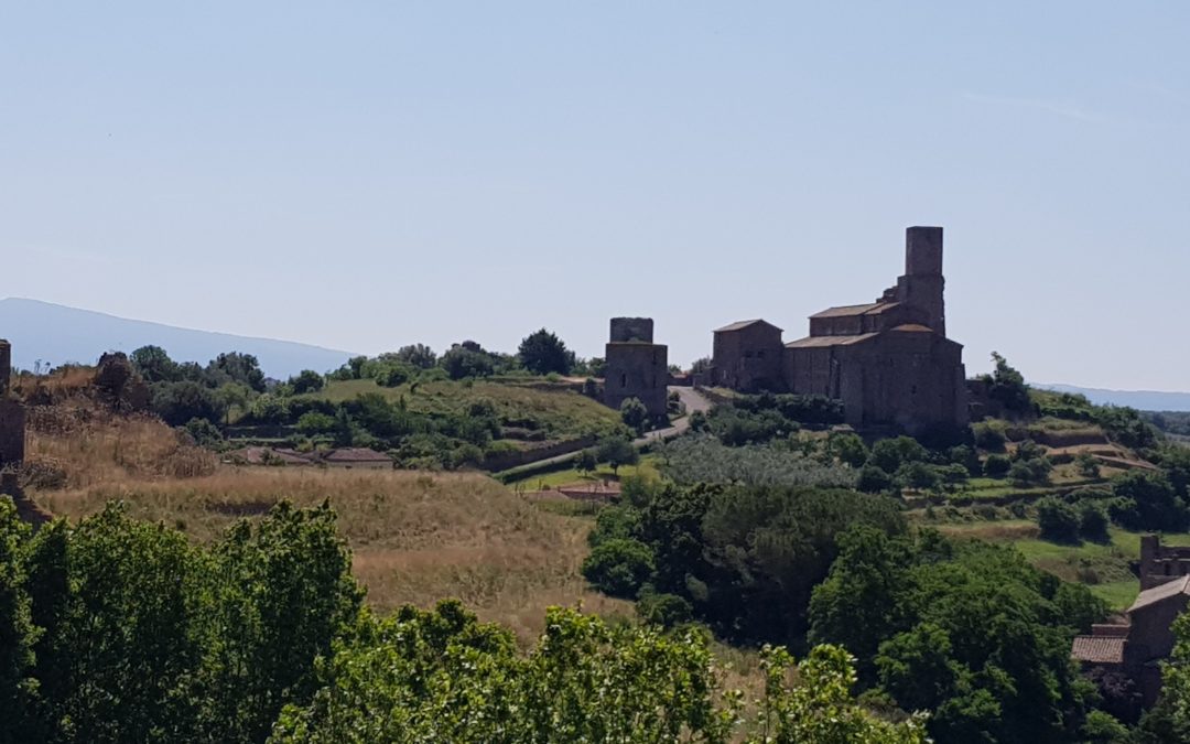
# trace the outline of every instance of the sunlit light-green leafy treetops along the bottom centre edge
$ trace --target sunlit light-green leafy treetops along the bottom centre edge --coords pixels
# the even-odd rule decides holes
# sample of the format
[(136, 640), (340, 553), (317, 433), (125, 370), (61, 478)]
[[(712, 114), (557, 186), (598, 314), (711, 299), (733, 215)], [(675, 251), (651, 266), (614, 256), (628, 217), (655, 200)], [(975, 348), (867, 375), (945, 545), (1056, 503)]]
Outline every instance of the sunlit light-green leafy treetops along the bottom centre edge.
[(273, 740), (339, 742), (788, 742), (916, 744), (919, 719), (875, 719), (851, 696), (846, 652), (815, 649), (796, 664), (763, 652), (754, 720), (722, 690), (703, 633), (608, 626), (553, 608), (527, 655), (508, 631), (476, 623), (456, 602), (369, 620), (321, 668), (308, 706), (290, 706)]

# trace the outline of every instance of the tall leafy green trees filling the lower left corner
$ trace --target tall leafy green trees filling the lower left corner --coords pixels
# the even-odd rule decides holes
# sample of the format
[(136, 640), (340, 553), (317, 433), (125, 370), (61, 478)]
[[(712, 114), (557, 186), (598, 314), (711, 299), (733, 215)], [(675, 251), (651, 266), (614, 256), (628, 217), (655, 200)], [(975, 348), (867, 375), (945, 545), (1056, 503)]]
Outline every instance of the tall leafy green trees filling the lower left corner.
[(118, 506), (32, 536), (0, 499), (0, 740), (263, 740), (355, 621), (350, 564), (325, 506), (202, 549)]

